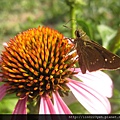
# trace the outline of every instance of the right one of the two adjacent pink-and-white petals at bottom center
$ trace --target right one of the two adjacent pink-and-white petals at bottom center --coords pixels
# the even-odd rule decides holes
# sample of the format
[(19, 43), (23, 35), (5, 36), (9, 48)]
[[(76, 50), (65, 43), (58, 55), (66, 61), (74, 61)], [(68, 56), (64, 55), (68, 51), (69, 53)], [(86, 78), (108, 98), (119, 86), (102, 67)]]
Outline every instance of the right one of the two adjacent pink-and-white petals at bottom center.
[(53, 93), (53, 101), (57, 114), (72, 114), (58, 92)]

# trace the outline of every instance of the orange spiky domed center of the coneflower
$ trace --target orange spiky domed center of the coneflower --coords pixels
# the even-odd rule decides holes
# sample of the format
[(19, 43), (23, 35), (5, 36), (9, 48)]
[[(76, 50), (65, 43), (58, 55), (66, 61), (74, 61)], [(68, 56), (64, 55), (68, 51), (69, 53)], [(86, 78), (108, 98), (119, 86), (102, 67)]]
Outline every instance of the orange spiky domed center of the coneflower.
[(66, 77), (76, 54), (69, 55), (72, 44), (59, 32), (38, 27), (11, 39), (2, 52), (3, 82), (8, 93), (36, 98), (53, 91), (67, 94)]

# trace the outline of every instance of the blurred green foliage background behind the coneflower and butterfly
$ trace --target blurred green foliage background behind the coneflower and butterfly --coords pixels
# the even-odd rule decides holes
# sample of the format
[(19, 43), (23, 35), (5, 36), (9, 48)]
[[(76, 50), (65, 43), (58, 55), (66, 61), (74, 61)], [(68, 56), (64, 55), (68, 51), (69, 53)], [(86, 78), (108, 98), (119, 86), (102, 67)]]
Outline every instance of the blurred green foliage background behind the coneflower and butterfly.
[[(82, 27), (92, 40), (120, 56), (119, 0), (0, 0), (0, 52), (16, 34), (43, 25), (66, 37), (74, 37), (75, 29)], [(112, 113), (120, 113), (120, 70), (105, 72), (114, 82)], [(6, 96), (0, 113), (12, 113), (16, 102), (14, 95)], [(69, 107), (73, 113), (87, 113), (77, 102)]]

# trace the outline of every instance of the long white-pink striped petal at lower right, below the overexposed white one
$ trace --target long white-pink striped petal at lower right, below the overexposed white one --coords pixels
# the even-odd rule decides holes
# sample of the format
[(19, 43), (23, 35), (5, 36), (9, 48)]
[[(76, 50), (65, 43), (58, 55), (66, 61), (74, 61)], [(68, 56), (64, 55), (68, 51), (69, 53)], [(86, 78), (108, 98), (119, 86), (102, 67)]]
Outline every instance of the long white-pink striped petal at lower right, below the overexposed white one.
[(91, 114), (108, 114), (111, 112), (111, 106), (108, 99), (102, 96), (94, 88), (85, 83), (69, 79), (67, 83), (70, 90), (73, 92), (77, 100), (91, 113)]

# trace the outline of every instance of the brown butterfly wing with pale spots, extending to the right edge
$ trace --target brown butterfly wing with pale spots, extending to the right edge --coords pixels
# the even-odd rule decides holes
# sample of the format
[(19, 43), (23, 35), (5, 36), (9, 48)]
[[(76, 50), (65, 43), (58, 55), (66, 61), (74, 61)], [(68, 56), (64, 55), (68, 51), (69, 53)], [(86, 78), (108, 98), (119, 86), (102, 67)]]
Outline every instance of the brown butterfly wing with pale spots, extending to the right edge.
[(120, 57), (106, 50), (94, 41), (86, 41), (86, 46), (81, 50), (81, 54), (82, 64), (86, 66), (89, 72), (99, 69), (112, 70), (120, 68)]

